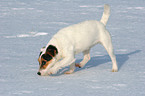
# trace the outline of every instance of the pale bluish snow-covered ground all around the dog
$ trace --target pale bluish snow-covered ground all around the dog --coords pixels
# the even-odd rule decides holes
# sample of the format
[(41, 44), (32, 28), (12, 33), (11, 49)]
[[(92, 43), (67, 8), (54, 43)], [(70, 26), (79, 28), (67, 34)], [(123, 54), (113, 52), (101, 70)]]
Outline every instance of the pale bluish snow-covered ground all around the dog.
[[(119, 72), (101, 45), (70, 75), (38, 76), (40, 48), (61, 28), (111, 6)], [(77, 62), (83, 58), (77, 55)], [(145, 0), (0, 0), (0, 96), (145, 96)]]

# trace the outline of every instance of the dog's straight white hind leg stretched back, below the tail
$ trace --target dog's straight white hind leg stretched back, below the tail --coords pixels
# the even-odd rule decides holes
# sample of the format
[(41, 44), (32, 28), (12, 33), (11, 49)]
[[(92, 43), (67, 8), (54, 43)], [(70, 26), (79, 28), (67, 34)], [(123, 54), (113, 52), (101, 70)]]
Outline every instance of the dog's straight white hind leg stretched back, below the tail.
[(111, 37), (110, 37), (110, 34), (108, 34), (108, 32), (102, 39), (101, 44), (105, 47), (106, 51), (108, 52), (108, 54), (112, 60), (112, 63), (113, 63), (112, 72), (117, 72), (118, 66), (117, 66), (117, 62), (116, 62), (116, 56), (114, 55)]

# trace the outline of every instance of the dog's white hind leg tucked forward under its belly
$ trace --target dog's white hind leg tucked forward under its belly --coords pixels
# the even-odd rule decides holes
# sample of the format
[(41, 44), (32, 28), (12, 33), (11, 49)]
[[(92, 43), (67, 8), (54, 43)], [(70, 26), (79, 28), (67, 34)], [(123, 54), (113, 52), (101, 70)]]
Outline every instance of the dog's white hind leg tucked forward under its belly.
[(84, 59), (80, 63), (76, 63), (76, 67), (82, 68), (86, 65), (86, 63), (91, 59), (90, 57), (90, 49), (83, 52)]

